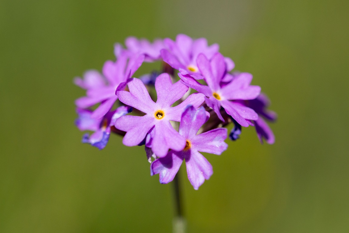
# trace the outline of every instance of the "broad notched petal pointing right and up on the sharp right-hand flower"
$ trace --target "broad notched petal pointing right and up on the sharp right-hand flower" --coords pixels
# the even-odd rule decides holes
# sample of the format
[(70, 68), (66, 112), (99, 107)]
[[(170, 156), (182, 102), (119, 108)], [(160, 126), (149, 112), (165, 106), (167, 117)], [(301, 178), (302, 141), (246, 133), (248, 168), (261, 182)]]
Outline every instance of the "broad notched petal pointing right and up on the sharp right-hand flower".
[(251, 86), (252, 74), (241, 73), (228, 85), (221, 89), (222, 96), (227, 100), (253, 100), (259, 93), (259, 86)]

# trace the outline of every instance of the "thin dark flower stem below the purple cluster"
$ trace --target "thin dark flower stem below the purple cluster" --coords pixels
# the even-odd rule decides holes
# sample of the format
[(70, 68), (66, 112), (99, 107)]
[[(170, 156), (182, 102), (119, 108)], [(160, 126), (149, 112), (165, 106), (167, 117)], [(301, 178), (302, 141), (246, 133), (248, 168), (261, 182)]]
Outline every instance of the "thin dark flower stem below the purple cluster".
[(183, 209), (181, 206), (181, 198), (180, 198), (180, 184), (178, 173), (174, 176), (173, 179), (173, 191), (174, 191), (174, 205), (176, 214), (173, 218), (173, 233), (185, 233), (186, 230), (186, 221), (183, 217)]

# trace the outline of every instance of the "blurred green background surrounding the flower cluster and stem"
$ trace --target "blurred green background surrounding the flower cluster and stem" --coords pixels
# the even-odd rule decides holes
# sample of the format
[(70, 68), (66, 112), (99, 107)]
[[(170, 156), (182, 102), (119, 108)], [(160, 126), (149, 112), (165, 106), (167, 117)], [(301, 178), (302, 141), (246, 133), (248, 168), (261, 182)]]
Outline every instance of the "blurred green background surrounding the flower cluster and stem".
[[(181, 170), (188, 232), (349, 232), (348, 1), (0, 1), (0, 232), (171, 232), (171, 184), (115, 135), (82, 144), (73, 78), (127, 36), (185, 33), (254, 75), (279, 119)], [(228, 141), (228, 140), (227, 140)]]

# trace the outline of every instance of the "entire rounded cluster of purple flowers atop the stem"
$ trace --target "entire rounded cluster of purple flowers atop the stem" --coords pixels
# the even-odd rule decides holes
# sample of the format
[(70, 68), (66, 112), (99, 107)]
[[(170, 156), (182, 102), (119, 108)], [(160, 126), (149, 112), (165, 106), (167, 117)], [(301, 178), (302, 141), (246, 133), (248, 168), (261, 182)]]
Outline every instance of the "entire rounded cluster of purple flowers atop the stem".
[[(213, 174), (200, 152), (227, 150), (225, 126), (233, 124), (231, 140), (240, 137), (242, 126), (254, 126), (261, 143), (274, 143), (265, 120), (275, 121), (276, 114), (267, 110), (267, 96), (251, 85), (251, 74), (232, 72), (233, 61), (217, 44), (180, 34), (153, 43), (129, 37), (125, 45), (115, 45), (116, 61), (106, 61), (102, 74), (90, 70), (74, 80), (86, 89), (75, 101), (75, 124), (94, 132), (83, 143), (101, 150), (114, 132), (126, 146), (144, 145), (150, 173), (159, 174), (160, 183), (171, 182), (185, 160), (194, 189)], [(155, 61), (162, 61), (163, 73), (133, 78), (143, 62)]]

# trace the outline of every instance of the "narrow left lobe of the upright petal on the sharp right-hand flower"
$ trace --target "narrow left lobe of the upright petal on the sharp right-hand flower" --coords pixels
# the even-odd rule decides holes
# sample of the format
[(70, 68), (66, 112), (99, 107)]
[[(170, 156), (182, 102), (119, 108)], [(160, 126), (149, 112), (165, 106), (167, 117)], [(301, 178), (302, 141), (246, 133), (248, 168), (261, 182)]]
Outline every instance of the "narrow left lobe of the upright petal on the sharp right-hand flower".
[(210, 89), (213, 92), (218, 90), (220, 80), (217, 82), (216, 77), (214, 77), (211, 70), (211, 64), (206, 56), (204, 54), (199, 54), (198, 59), (196, 59), (196, 63), (198, 64), (198, 68)]

